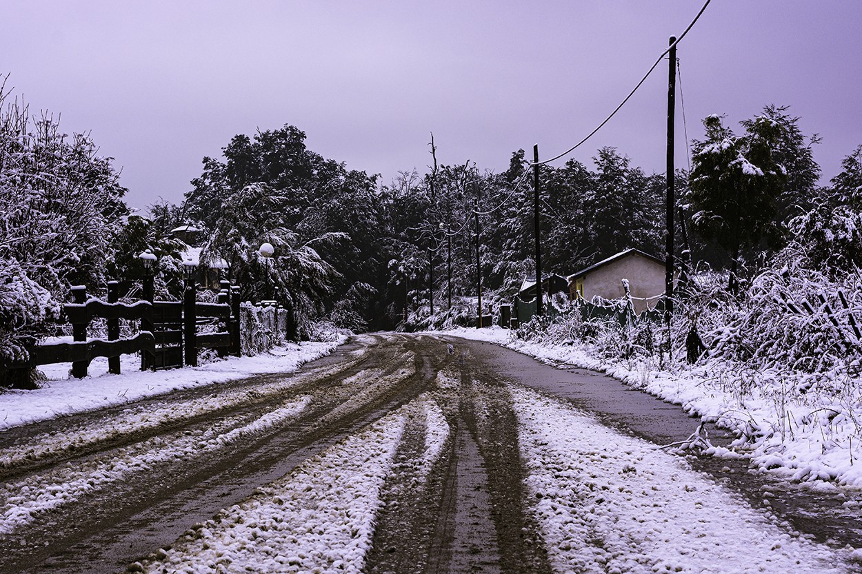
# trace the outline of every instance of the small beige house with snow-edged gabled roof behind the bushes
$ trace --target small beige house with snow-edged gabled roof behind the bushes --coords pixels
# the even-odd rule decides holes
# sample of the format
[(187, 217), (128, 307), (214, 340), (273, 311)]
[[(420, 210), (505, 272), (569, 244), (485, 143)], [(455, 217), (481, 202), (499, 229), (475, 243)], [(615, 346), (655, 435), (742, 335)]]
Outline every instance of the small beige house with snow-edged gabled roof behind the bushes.
[(618, 299), (626, 296), (623, 279), (628, 279), (634, 312), (653, 309), (665, 294), (665, 262), (639, 249), (616, 253), (570, 275), (569, 297)]

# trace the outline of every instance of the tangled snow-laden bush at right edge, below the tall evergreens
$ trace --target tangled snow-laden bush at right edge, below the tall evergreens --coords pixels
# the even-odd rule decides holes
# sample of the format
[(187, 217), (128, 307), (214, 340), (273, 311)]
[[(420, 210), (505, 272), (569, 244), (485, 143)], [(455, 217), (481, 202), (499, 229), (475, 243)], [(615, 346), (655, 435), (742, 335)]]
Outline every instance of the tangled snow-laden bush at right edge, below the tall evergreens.
[(862, 317), (858, 274), (831, 279), (790, 246), (730, 296), (714, 275), (696, 277), (679, 301), (674, 340), (694, 325), (709, 355), (753, 368), (827, 371), (859, 359), (853, 321)]

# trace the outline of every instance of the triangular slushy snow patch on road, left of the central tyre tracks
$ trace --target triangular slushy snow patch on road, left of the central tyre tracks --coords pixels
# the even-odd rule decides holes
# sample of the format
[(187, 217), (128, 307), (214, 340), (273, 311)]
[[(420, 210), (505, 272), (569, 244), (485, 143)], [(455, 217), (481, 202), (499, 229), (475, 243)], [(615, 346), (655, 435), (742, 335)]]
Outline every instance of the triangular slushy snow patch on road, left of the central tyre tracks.
[(405, 408), (222, 510), (141, 571), (362, 571)]

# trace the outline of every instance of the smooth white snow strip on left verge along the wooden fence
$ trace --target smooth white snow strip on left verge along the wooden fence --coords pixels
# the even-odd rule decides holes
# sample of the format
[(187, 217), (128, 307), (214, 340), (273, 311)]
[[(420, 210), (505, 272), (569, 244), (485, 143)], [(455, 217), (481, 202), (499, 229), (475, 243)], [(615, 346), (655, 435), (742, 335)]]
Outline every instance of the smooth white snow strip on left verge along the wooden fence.
[(59, 415), (70, 415), (109, 405), (132, 402), (145, 396), (207, 384), (223, 383), (269, 372), (295, 371), (303, 363), (318, 359), (346, 340), (302, 342), (276, 347), (254, 357), (230, 357), (207, 365), (167, 371), (141, 371), (135, 355), (122, 355), (121, 375), (108, 374), (108, 360), (91, 363), (90, 376), (72, 378), (70, 363), (40, 367), (48, 381), (37, 390), (0, 392), (0, 430)]

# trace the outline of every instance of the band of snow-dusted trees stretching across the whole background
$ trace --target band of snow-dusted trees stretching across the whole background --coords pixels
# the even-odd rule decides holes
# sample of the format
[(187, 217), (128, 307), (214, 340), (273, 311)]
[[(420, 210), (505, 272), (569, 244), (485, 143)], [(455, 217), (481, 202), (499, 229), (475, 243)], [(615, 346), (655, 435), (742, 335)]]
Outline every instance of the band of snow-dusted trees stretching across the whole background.
[[(186, 246), (171, 230), (186, 224), (202, 230), (204, 263), (223, 259), (244, 298), (291, 309), (299, 336), (315, 321), (365, 330), (427, 317), (432, 276), (436, 315), (423, 324), (464, 319), (475, 312), (461, 297), (477, 294), (477, 248), (486, 301), (509, 300), (534, 277), (532, 168), (520, 149), (500, 173), (469, 160), (438, 165), (432, 136), (428, 170), (384, 184), (309, 150), (303, 131), (285, 125), (235, 135), (222, 157), (203, 159), (181, 202), (141, 215), (89, 135), (63, 134), (4, 87), (0, 104), (3, 359), (49, 331), (70, 285), (118, 279), (134, 291), (145, 249), (159, 258), (159, 296), (177, 297)], [(677, 224), (690, 231), (693, 258), (728, 270), (731, 290), (790, 241), (821, 270), (857, 268), (862, 147), (821, 185), (819, 138), (803, 134), (788, 108), (766, 106), (739, 134), (727, 123), (703, 120), (691, 172), (677, 174)], [(540, 179), (544, 270), (569, 274), (628, 247), (662, 253), (662, 174), (603, 147), (591, 165), (541, 165)], [(264, 242), (274, 257), (259, 256)]]

